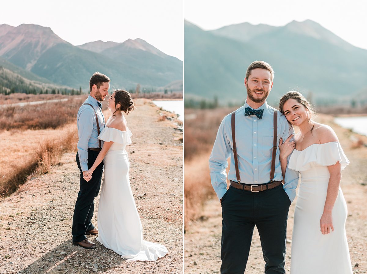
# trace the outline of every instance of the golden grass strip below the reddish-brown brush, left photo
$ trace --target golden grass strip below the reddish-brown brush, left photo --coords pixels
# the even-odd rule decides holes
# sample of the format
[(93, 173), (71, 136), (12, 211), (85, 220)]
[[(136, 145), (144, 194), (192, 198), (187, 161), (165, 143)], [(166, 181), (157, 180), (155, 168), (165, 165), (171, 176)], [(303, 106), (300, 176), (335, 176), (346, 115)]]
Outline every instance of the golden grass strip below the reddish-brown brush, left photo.
[(0, 137), (5, 140), (0, 151), (0, 195), (3, 197), (14, 192), (32, 174), (49, 172), (64, 152), (75, 151), (77, 143), (75, 125), (13, 134), (5, 131)]

